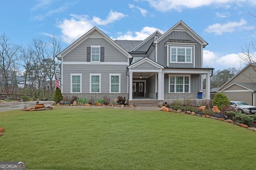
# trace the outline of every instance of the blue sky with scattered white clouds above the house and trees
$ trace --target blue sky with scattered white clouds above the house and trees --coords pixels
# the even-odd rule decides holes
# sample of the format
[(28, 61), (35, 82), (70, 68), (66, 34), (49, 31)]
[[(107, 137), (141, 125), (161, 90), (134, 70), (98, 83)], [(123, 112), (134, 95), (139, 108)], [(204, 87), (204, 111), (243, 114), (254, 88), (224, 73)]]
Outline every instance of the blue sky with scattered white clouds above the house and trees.
[(144, 40), (180, 20), (202, 37), (204, 67), (243, 68), (256, 39), (256, 0), (1, 0), (0, 35), (27, 47), (55, 35), (62, 49), (96, 26), (112, 39)]

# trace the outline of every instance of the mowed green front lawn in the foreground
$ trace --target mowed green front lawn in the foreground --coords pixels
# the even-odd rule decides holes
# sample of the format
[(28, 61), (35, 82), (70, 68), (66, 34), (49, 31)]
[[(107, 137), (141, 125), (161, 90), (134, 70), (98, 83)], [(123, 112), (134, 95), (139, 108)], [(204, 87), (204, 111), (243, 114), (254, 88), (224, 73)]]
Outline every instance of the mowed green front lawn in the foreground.
[(26, 169), (255, 169), (256, 132), (162, 111), (0, 112), (0, 161)]

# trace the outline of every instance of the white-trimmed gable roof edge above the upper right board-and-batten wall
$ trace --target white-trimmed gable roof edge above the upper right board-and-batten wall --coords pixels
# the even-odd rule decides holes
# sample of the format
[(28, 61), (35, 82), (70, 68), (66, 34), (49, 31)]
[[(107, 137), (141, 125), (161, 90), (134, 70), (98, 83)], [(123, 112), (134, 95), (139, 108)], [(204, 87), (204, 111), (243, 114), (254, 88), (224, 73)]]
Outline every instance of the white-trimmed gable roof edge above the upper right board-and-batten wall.
[(166, 37), (167, 35), (169, 35), (172, 31), (186, 31), (188, 32), (194, 39), (196, 39), (196, 41), (198, 41), (198, 43), (200, 43), (201, 45), (203, 45), (203, 47), (205, 47), (206, 45), (208, 45), (208, 43), (206, 41), (204, 41), (204, 39), (202, 39), (195, 31), (193, 31), (190, 27), (188, 27), (188, 25), (186, 25), (186, 23), (184, 23), (183, 21), (179, 21), (178, 23), (176, 23), (173, 27), (171, 27), (168, 31), (166, 31), (161, 37), (159, 37), (158, 39), (156, 39), (154, 41), (154, 43), (158, 43), (160, 42), (162, 39), (164, 39), (164, 37)]

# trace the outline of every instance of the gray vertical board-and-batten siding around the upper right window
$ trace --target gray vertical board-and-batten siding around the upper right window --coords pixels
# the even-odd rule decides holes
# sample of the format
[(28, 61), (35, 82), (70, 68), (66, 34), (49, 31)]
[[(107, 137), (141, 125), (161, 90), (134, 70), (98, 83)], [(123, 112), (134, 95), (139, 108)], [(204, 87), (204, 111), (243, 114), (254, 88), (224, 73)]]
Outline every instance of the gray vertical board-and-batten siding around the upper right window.
[[(186, 31), (172, 31), (168, 36), (164, 37), (160, 42), (157, 44), (157, 63), (161, 64), (162, 66), (167, 66), (167, 47), (165, 47), (165, 43), (169, 39), (178, 39), (178, 40), (191, 40), (196, 42), (195, 45), (195, 56), (193, 56), (193, 63), (169, 63), (169, 67), (172, 68), (202, 68), (201, 65), (201, 51), (202, 45), (198, 43), (191, 35), (189, 35)], [(170, 50), (169, 50), (170, 52)], [(170, 57), (170, 56), (168, 56)], [(194, 61), (195, 59), (195, 61)], [(170, 62), (170, 59), (169, 59)]]

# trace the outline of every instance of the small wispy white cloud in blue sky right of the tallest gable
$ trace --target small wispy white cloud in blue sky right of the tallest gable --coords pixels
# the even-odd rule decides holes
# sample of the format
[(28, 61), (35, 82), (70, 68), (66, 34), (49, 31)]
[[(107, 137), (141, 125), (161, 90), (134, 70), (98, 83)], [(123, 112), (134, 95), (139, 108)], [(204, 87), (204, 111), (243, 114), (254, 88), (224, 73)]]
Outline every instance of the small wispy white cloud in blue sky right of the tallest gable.
[(241, 19), (239, 22), (228, 22), (224, 24), (214, 23), (213, 25), (209, 25), (208, 28), (205, 29), (208, 33), (214, 33), (215, 35), (222, 35), (224, 32), (234, 32), (236, 28), (245, 29), (246, 20)]

